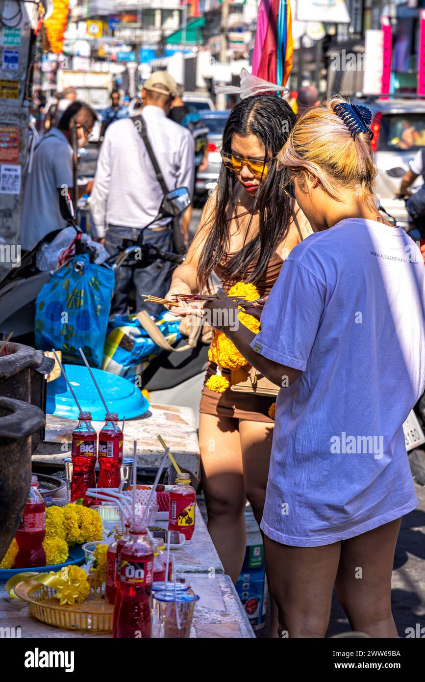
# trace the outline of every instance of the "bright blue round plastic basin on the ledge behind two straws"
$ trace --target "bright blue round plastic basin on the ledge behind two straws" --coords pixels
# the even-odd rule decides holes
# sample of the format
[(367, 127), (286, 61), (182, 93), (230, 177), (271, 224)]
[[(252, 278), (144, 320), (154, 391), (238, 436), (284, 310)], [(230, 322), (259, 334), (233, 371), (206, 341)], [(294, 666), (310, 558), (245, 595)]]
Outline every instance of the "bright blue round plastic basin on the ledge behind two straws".
[[(149, 407), (149, 401), (142, 396), (140, 388), (123, 376), (117, 376), (104, 370), (93, 369), (95, 379), (111, 412), (117, 412), (118, 418), (133, 419), (143, 415)], [(65, 365), (65, 372), (74, 389), (76, 398), (84, 412), (91, 412), (94, 421), (104, 421), (105, 408), (99, 398), (89, 370), (80, 365)], [(46, 412), (57, 417), (78, 419), (78, 408), (63, 376), (49, 381), (47, 385)]]

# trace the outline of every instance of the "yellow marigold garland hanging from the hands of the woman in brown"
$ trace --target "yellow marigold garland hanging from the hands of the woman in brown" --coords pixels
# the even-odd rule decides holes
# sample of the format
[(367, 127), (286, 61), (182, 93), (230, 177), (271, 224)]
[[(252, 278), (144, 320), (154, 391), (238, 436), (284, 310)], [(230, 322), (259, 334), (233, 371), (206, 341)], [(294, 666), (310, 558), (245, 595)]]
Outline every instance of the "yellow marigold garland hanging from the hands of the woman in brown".
[[(249, 282), (237, 282), (228, 291), (229, 296), (240, 297), (245, 301), (255, 301), (259, 298), (259, 291), (255, 284)], [(238, 320), (244, 327), (250, 329), (254, 333), (259, 332), (260, 323), (252, 315), (247, 312), (242, 312), (242, 307), (238, 313)], [(215, 331), (213, 342), (208, 350), (208, 359), (217, 364), (217, 374), (210, 376), (206, 382), (206, 387), (215, 393), (224, 393), (230, 387), (231, 382), (227, 376), (221, 375), (221, 369), (238, 370), (247, 364), (245, 357), (239, 353), (235, 344), (225, 336), (222, 331)]]

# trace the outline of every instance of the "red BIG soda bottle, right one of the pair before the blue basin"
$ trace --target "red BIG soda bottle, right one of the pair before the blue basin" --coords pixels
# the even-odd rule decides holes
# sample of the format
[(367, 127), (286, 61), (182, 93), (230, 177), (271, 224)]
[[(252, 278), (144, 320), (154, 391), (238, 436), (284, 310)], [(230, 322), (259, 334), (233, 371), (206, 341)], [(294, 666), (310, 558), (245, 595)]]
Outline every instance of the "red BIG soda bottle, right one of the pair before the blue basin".
[(118, 426), (118, 415), (106, 413), (105, 426), (99, 432), (98, 488), (119, 488), (123, 463), (123, 432)]

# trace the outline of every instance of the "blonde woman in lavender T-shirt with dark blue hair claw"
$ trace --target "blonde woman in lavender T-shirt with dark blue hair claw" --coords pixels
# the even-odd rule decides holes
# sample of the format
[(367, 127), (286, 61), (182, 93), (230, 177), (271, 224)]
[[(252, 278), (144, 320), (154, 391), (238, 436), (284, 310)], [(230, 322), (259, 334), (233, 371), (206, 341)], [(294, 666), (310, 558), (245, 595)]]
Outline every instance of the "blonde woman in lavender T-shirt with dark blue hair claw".
[(334, 99), (296, 123), (279, 162), (314, 234), (285, 259), (257, 336), (221, 327), (283, 385), (261, 527), (289, 637), (325, 636), (334, 584), (353, 629), (397, 636), (394, 550), (418, 503), (403, 422), (425, 389), (425, 269), (376, 209), (370, 121)]

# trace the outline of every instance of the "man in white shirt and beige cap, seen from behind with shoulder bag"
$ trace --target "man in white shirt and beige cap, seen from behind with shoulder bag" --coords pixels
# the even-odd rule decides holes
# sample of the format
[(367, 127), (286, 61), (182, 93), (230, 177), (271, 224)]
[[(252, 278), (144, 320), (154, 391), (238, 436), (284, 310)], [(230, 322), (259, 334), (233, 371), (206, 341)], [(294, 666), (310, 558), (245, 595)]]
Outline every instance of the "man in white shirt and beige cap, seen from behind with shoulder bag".
[[(176, 88), (170, 74), (154, 72), (142, 89), (141, 115), (168, 190), (187, 187), (193, 192), (193, 137), (189, 130), (167, 118)], [(116, 254), (123, 243), (138, 241), (140, 231), (158, 215), (162, 200), (163, 190), (133, 120), (116, 121), (106, 130), (97, 161), (91, 199), (92, 233), (98, 239), (105, 239), (108, 252)], [(153, 223), (144, 233), (143, 241), (172, 251), (171, 218)], [(131, 284), (136, 287), (136, 310), (160, 312), (162, 306), (145, 303), (141, 295), (164, 296), (169, 288), (171, 268), (171, 263), (163, 261), (144, 268), (120, 267), (116, 271), (111, 312), (127, 311)]]

